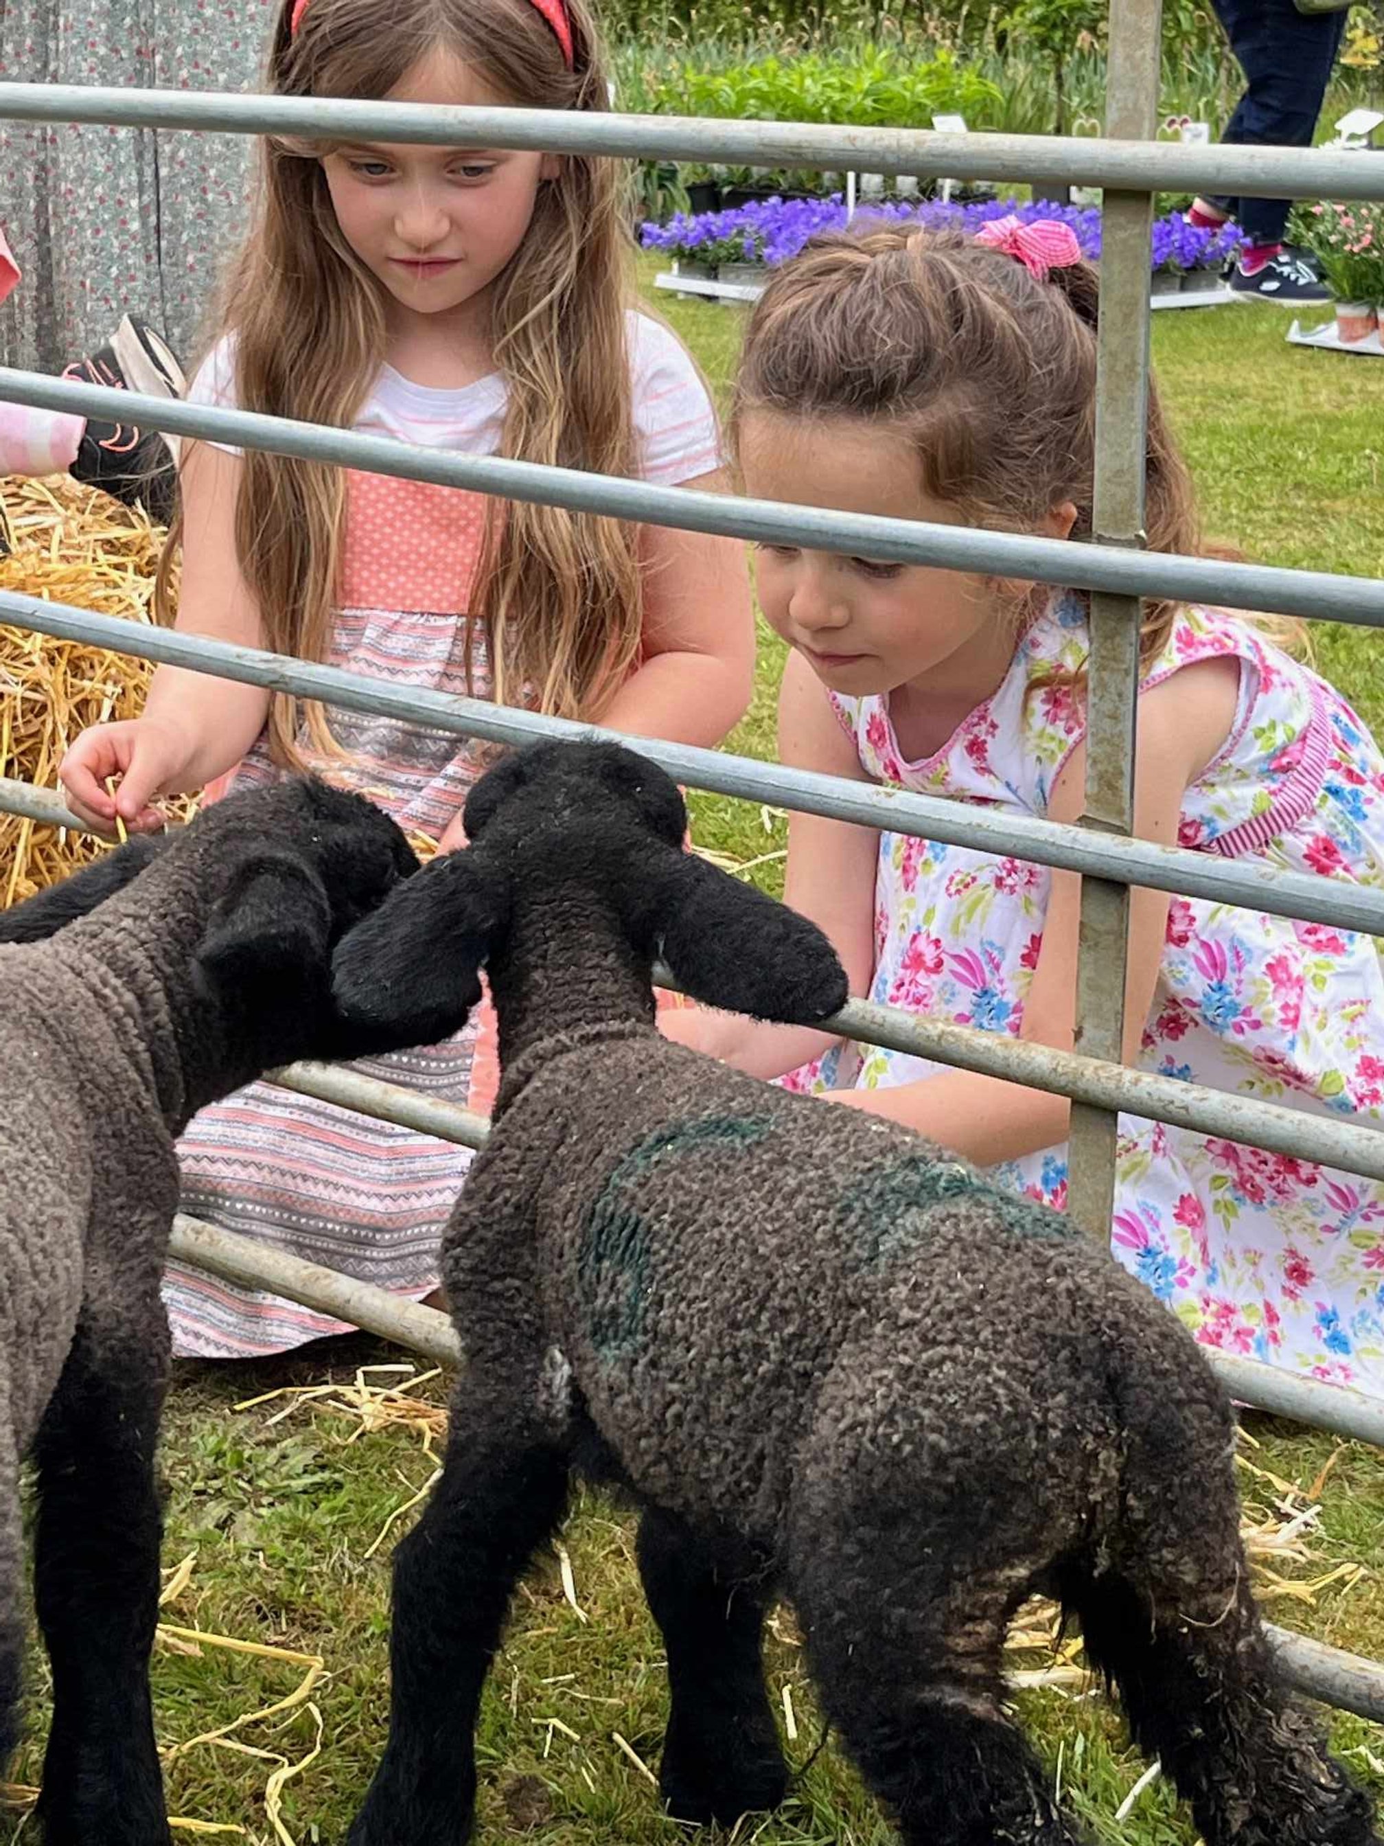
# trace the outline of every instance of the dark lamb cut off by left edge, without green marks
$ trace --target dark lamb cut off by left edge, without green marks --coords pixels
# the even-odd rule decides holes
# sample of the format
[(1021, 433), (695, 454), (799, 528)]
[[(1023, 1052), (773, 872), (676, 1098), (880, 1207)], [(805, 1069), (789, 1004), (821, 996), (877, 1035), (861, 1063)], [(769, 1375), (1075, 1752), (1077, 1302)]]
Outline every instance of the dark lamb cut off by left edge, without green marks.
[(148, 1660), (175, 1137), (277, 1063), (399, 1045), (343, 1026), (330, 956), (412, 871), (380, 809), (295, 781), (131, 840), (0, 917), (0, 1767), (18, 1728), (31, 1451), (48, 1846), (170, 1846)]

